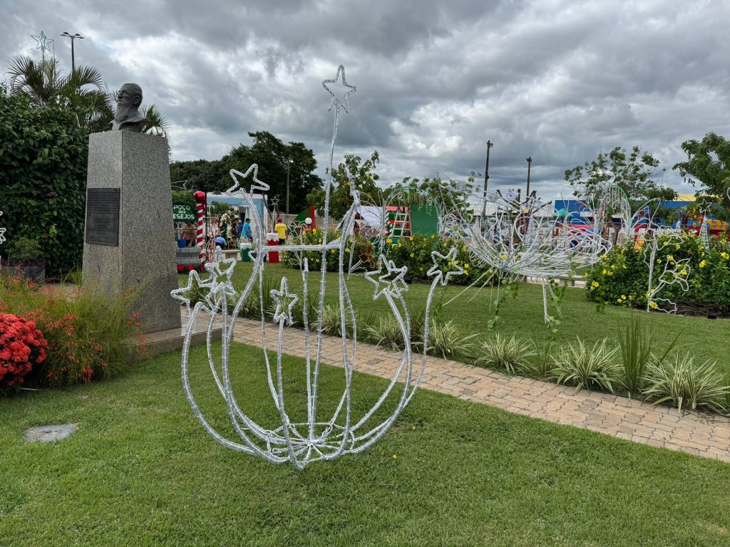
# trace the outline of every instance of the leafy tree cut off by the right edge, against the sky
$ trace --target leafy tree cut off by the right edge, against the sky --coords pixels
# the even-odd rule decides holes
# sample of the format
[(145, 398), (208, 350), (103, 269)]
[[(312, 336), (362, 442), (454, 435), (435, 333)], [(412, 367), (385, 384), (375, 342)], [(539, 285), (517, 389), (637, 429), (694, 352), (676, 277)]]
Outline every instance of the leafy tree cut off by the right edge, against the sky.
[[(673, 169), (693, 186), (699, 185), (699, 195), (715, 198), (723, 218), (730, 217), (730, 141), (716, 133), (707, 133), (701, 141), (684, 141), (682, 150), (686, 161), (680, 161)], [(718, 212), (715, 212), (718, 213)]]

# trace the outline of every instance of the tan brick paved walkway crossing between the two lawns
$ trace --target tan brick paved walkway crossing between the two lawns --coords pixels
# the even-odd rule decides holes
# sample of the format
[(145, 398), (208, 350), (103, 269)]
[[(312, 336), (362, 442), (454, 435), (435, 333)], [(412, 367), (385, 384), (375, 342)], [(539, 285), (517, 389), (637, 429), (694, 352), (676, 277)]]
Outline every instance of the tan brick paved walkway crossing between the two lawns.
[[(261, 346), (261, 322), (239, 318), (234, 340)], [(287, 330), (284, 352), (304, 355), (303, 330)], [(390, 379), (400, 355), (399, 352), (358, 343), (355, 368), (359, 372)], [(322, 362), (341, 365), (340, 338), (325, 338)], [(695, 413), (680, 416), (675, 408), (586, 390), (576, 392), (574, 387), (507, 376), (437, 357), (429, 357), (420, 387), (496, 406), (515, 414), (730, 462), (730, 419), (724, 417)]]

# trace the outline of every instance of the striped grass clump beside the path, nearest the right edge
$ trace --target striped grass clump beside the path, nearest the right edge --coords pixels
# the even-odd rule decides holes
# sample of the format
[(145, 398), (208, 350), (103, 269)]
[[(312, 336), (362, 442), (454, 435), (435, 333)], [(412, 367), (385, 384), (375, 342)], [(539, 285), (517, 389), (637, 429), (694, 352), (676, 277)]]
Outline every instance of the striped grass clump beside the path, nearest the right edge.
[(673, 359), (652, 360), (647, 365), (644, 395), (658, 405), (672, 403), (678, 410), (707, 410), (721, 413), (730, 387), (714, 362), (696, 364), (688, 354)]

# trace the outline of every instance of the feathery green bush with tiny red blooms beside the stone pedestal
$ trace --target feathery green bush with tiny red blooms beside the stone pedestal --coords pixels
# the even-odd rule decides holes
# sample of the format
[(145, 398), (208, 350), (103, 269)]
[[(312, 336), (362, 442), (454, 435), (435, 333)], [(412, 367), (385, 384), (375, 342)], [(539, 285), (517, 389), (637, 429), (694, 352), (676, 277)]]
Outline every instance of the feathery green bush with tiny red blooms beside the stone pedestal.
[(131, 313), (136, 295), (109, 299), (76, 289), (66, 297), (64, 290), (0, 276), (0, 311), (34, 322), (48, 344), (29, 383), (57, 387), (106, 378), (126, 368), (135, 340), (142, 343), (137, 352), (144, 352), (145, 337)]

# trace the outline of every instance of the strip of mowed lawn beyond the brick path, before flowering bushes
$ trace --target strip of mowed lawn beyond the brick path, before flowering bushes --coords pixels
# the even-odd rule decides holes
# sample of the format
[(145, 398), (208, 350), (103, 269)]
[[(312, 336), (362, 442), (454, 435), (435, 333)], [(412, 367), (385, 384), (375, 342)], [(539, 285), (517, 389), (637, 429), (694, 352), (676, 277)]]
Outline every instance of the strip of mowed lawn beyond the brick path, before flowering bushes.
[[(252, 263), (237, 263), (234, 273), (234, 285), (237, 289), (240, 290), (245, 286), (251, 269)], [(301, 272), (298, 270), (286, 268), (281, 264), (266, 263), (264, 276), (274, 280), (286, 276), (290, 290), (301, 295)], [(331, 273), (327, 276), (326, 300), (328, 303), (337, 305), (337, 298), (339, 298), (337, 274)], [(310, 298), (316, 298), (319, 294), (319, 280), (319, 271), (310, 272)], [(186, 283), (185, 276), (180, 276), (180, 282)], [(404, 297), (410, 306), (418, 309), (418, 306), (425, 305), (429, 287), (430, 285), (425, 283), (411, 284)], [(493, 301), (497, 298), (496, 288), (484, 287), (478, 290), (478, 287), (473, 287), (465, 292), (464, 288), (456, 285), (446, 287), (439, 285), (434, 296), (434, 310), (437, 304), (442, 304), (440, 310), (437, 311), (439, 320), (453, 319), (464, 334), (478, 333), (477, 340), (486, 339), (492, 333), (515, 335), (526, 343), (534, 339), (548, 338), (548, 328), (545, 326), (542, 315), (542, 287), (540, 285), (520, 284), (517, 298), (512, 298), (502, 290), (504, 300), (499, 310), (500, 319), (492, 331), (487, 329), (487, 322), (493, 317)], [(347, 279), (347, 289), (356, 309), (374, 311), (384, 316), (391, 313), (385, 298), (372, 299), (374, 286), (361, 274), (353, 274)], [(461, 296), (447, 304), (461, 292), (463, 292)], [(623, 325), (631, 314), (641, 314), (642, 321), (646, 325), (654, 327), (656, 349), (663, 351), (678, 337), (677, 344), (682, 351), (696, 355), (696, 359), (701, 361), (715, 360), (718, 367), (730, 375), (730, 354), (728, 352), (730, 320), (728, 319), (712, 320), (704, 317), (671, 316), (664, 313), (647, 314), (619, 306), (605, 306), (604, 311), (599, 312), (596, 310), (596, 303), (585, 298), (585, 290), (582, 288), (568, 288), (561, 308), (563, 319), (558, 327), (556, 347), (575, 341), (577, 336), (588, 344), (608, 338), (612, 346), (618, 347), (618, 326)], [(552, 309), (551, 313), (553, 313)]]

